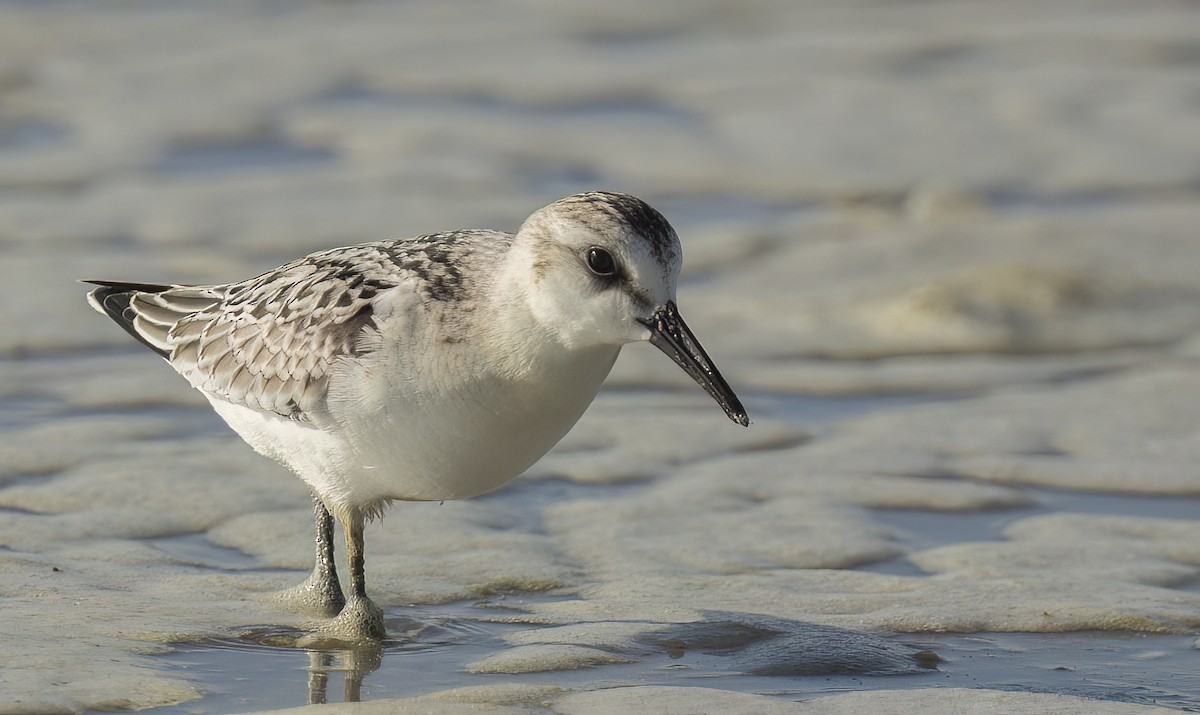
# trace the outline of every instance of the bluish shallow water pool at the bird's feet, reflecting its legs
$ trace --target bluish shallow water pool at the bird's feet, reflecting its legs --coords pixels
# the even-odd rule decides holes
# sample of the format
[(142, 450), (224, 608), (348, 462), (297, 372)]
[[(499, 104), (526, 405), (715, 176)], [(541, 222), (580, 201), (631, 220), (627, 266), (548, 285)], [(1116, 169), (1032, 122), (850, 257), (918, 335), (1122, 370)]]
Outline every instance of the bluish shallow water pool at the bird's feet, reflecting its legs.
[[(1194, 636), (1145, 633), (973, 633), (902, 636), (935, 651), (936, 669), (908, 675), (766, 677), (731, 672), (721, 655), (666, 651), (632, 665), (572, 672), (488, 675), (467, 663), (505, 645), (522, 626), (494, 623), (505, 612), (469, 605), (406, 608), (388, 615), (392, 633), (382, 653), (314, 651), (262, 643), (262, 630), (242, 638), (181, 647), (161, 656), (205, 692), (202, 701), (156, 713), (252, 713), (316, 702), (410, 697), (462, 687), (520, 681), (582, 689), (620, 684), (694, 685), (804, 701), (838, 692), (918, 687), (983, 687), (1073, 695), (1200, 711)], [(264, 629), (265, 630), (265, 629)], [(347, 696), (350, 697), (347, 697)]]

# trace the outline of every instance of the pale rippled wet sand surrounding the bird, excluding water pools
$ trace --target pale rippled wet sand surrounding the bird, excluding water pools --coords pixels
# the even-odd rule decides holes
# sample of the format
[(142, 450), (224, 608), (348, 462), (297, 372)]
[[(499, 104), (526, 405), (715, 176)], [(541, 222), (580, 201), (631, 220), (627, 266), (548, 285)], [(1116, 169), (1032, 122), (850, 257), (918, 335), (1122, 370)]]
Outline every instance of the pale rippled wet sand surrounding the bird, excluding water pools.
[[(384, 606), (554, 593), (481, 672), (599, 663), (588, 649), (623, 653), (629, 623), (710, 611), (1195, 632), (1200, 515), (1045, 513), (908, 551), (919, 575), (854, 566), (906, 553), (877, 507), (1003, 510), (1030, 486), (1200, 498), (1198, 186), (1188, 2), (0, 5), (0, 711), (187, 702), (197, 684), (152, 654), (300, 624), (266, 595), (308, 565), (305, 489), (76, 278), (239, 278), (515, 228), (595, 187), (676, 221), (680, 305), (755, 425), (631, 347), (612, 384), (677, 392), (604, 395), (521, 487), (611, 488), (397, 506), (368, 535)], [(955, 399), (811, 426), (763, 407), (893, 392)], [(184, 534), (257, 567), (155, 545)], [(596, 687), (347, 710), (1154, 710)]]

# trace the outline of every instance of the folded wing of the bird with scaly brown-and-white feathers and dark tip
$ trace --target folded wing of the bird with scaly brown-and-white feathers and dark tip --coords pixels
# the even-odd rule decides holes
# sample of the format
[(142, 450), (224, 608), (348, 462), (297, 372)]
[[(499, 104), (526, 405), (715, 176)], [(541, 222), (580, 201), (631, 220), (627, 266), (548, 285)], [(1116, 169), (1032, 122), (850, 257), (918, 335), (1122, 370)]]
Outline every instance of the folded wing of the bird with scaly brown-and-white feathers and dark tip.
[(398, 284), (378, 245), (335, 248), (227, 286), (100, 282), (89, 301), (226, 402), (306, 420), (338, 359), (377, 341), (372, 301)]

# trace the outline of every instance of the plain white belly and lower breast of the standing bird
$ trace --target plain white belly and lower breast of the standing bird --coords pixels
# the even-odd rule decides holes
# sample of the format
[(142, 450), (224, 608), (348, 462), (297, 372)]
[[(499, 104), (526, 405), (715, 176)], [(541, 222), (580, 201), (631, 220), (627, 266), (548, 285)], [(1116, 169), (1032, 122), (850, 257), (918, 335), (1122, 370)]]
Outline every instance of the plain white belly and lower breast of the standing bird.
[(320, 426), (210, 401), (335, 513), (370, 513), (391, 499), (476, 497), (518, 476), (575, 425), (618, 353), (577, 355), (524, 381), (415, 386), (383, 371), (348, 369), (330, 381), (329, 393), (342, 398), (330, 401)]

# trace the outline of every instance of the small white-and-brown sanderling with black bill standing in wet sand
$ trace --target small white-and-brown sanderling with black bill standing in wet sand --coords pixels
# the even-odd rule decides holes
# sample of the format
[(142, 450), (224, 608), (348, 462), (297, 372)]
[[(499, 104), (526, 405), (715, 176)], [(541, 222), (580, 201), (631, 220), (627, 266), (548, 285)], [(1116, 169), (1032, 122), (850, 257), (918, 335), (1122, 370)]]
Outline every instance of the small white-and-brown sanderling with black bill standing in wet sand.
[[(671, 356), (749, 417), (676, 308), (679, 239), (641, 199), (590, 192), (516, 234), (448, 233), (312, 253), (221, 286), (88, 281), (259, 453), (313, 492), (317, 563), (292, 596), (337, 637), (382, 638), (364, 522), (394, 500), (491, 492), (545, 455), (625, 343)], [(334, 565), (346, 534), (350, 588)]]

